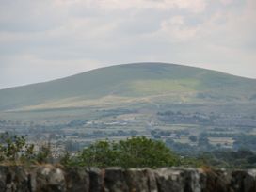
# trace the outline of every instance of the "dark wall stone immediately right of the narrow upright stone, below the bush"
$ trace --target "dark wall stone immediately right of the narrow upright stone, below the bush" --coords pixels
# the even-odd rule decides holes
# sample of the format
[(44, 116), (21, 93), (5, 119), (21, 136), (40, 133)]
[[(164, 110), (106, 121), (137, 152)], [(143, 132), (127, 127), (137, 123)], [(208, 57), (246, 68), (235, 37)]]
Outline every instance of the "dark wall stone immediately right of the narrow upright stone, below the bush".
[(104, 170), (105, 192), (128, 192), (124, 170), (121, 168), (105, 168)]

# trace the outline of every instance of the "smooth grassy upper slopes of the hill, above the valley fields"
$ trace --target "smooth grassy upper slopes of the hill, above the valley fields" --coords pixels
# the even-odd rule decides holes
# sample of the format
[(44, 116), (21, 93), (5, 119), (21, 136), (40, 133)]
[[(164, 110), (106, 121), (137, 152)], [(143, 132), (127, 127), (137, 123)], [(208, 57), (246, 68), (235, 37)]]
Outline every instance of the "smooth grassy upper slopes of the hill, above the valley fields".
[(0, 110), (106, 104), (248, 103), (256, 80), (194, 67), (136, 63), (101, 68), (50, 82), (0, 90)]

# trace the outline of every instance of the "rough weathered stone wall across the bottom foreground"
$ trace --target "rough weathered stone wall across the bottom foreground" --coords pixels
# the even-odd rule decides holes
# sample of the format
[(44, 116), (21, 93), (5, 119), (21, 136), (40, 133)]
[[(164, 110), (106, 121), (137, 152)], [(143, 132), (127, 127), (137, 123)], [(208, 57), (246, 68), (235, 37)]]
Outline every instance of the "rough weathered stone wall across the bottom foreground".
[(256, 192), (256, 169), (1, 166), (2, 191)]

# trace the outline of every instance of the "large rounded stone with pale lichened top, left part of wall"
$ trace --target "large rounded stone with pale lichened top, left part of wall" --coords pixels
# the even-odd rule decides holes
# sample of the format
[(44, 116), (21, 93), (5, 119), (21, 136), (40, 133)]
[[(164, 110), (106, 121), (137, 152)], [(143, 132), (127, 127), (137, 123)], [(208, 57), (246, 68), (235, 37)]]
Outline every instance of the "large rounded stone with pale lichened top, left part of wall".
[(66, 191), (64, 173), (51, 165), (35, 168), (31, 174), (32, 191)]

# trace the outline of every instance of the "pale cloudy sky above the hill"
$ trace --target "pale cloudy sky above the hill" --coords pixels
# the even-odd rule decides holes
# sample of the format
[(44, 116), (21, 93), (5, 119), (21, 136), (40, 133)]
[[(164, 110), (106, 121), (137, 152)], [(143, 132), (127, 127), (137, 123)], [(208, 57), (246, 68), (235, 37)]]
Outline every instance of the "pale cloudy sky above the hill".
[(256, 78), (255, 0), (0, 0), (0, 88), (133, 62)]

